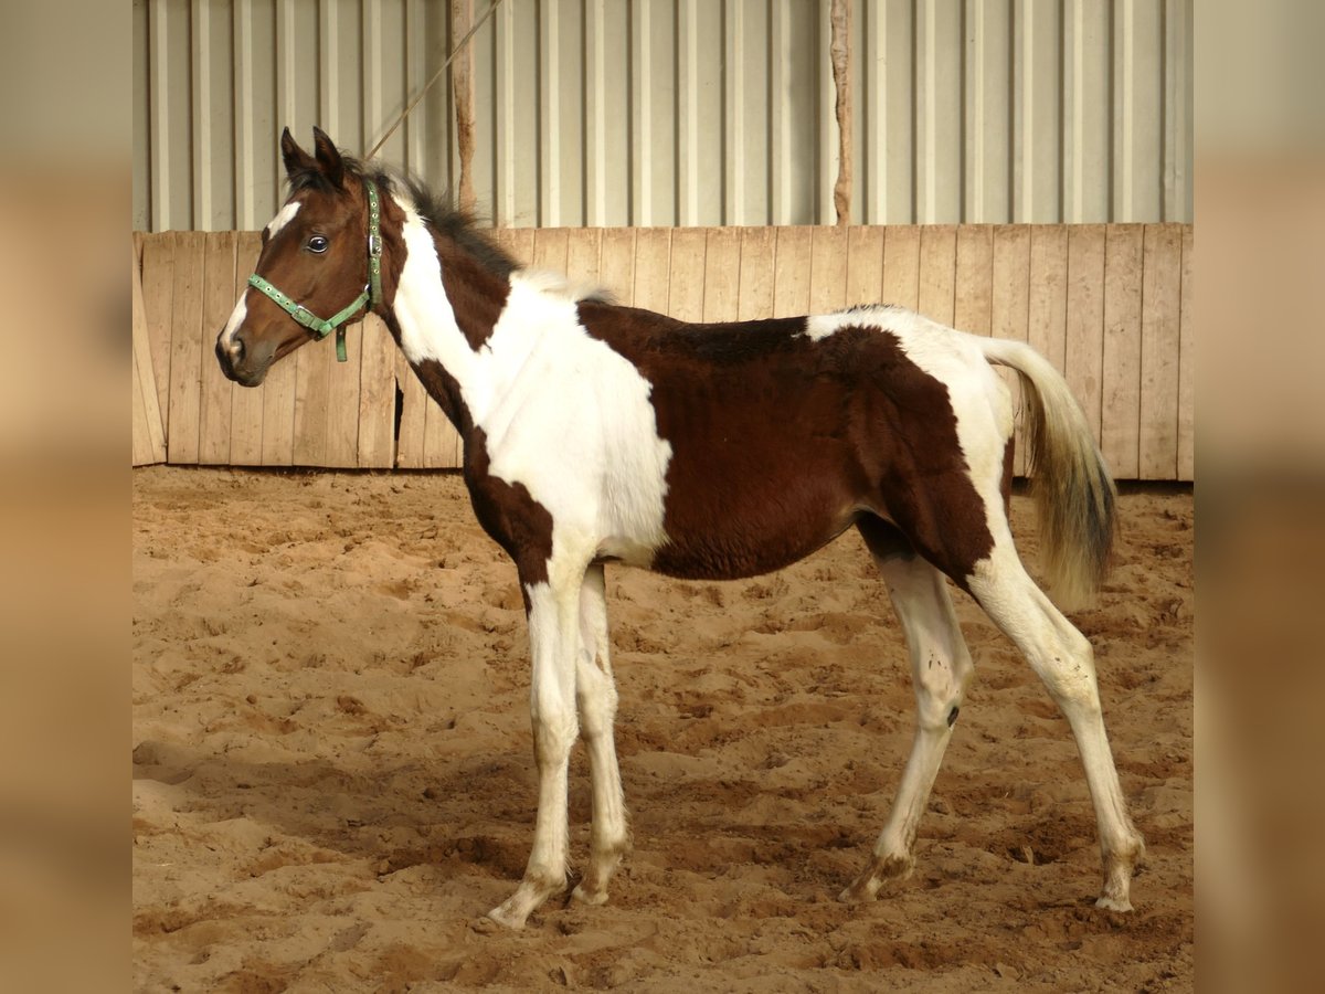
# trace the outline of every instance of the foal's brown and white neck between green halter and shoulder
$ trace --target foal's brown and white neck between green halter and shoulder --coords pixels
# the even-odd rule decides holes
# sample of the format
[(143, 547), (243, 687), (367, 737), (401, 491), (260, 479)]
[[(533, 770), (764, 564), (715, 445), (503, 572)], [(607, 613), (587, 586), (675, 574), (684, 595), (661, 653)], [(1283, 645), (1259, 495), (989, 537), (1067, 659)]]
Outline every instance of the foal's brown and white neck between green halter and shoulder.
[(466, 433), (497, 388), (482, 354), (510, 285), (400, 207), (404, 264), (388, 323), (424, 388)]

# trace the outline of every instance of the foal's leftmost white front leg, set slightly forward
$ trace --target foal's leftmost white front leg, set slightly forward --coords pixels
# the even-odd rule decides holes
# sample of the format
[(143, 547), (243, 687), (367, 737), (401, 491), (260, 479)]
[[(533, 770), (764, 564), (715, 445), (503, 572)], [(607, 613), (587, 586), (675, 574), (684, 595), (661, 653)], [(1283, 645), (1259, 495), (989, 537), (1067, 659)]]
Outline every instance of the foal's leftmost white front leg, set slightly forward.
[(538, 765), (538, 818), (525, 879), (488, 912), (509, 928), (522, 928), (538, 905), (566, 887), (567, 777), (579, 736), (575, 663), (579, 656), (579, 596), (583, 569), (553, 571), (553, 579), (525, 582), (533, 653), (530, 714)]

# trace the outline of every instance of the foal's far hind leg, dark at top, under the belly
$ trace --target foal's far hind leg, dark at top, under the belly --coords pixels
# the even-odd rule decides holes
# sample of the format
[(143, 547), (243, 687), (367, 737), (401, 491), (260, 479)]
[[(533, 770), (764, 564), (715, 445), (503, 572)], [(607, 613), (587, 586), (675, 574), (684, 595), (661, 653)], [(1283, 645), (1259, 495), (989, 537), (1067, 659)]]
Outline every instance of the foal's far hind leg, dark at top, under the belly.
[(843, 891), (844, 901), (871, 900), (885, 880), (910, 873), (916, 830), (974, 672), (943, 574), (916, 555), (890, 525), (869, 520), (861, 522), (860, 533), (884, 574), (906, 635), (917, 720), (888, 823), (869, 867)]

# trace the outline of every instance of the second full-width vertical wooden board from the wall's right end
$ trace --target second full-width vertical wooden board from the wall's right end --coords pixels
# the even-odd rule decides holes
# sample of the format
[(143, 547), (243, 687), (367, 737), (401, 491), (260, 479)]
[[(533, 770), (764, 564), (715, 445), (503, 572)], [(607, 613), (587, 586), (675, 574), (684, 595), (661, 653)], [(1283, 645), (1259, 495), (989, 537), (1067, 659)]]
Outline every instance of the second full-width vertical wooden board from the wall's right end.
[(1100, 449), (1120, 480), (1136, 480), (1141, 469), (1141, 237), (1140, 224), (1105, 229)]

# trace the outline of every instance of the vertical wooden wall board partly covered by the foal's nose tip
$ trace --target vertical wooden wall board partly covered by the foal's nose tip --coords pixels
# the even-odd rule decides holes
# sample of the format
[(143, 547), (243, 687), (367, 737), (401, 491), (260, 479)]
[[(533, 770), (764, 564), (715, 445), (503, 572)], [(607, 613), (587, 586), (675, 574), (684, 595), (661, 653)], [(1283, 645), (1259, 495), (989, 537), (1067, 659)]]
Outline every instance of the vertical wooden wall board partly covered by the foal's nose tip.
[(235, 245), (232, 231), (205, 236), (203, 257), (203, 321), (199, 329), (201, 410), (197, 461), (225, 465), (231, 461), (231, 417), (235, 391), (244, 390), (225, 379), (213, 358), (216, 335), (235, 310)]

